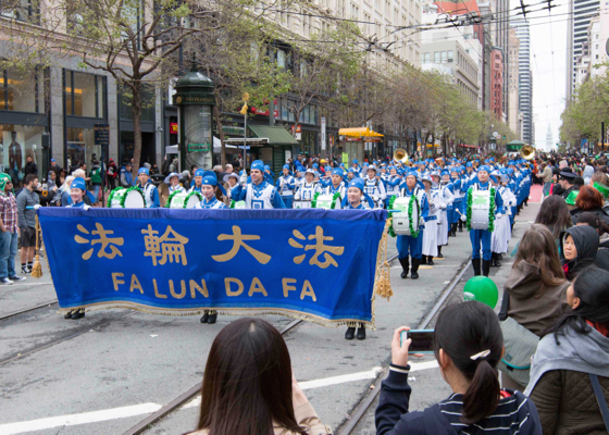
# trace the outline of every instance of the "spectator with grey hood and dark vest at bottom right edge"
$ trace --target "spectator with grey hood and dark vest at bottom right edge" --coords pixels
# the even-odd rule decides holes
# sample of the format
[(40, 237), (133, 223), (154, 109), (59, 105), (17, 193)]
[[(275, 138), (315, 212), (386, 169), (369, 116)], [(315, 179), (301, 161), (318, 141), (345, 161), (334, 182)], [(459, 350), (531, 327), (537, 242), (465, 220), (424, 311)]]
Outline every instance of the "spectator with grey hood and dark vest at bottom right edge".
[(567, 299), (573, 311), (539, 341), (525, 394), (544, 434), (607, 434), (591, 374), (609, 401), (609, 272), (583, 270)]

